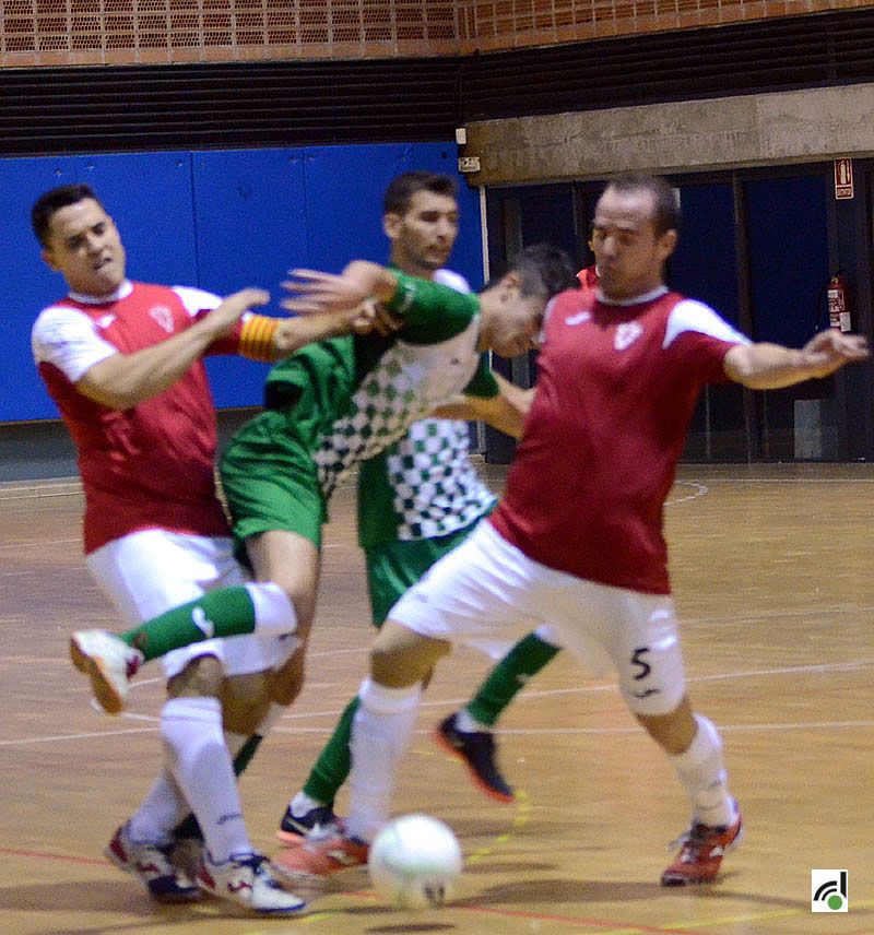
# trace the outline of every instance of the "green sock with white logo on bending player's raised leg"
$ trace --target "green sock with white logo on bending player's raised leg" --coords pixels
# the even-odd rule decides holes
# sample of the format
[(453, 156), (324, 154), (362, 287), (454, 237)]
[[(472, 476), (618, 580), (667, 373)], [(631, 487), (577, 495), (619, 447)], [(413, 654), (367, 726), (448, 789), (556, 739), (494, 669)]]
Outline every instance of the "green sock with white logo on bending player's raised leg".
[(213, 637), (236, 637), (255, 629), (255, 605), (240, 584), (210, 591), (197, 601), (174, 607), (133, 629), (119, 634), (146, 660)]

